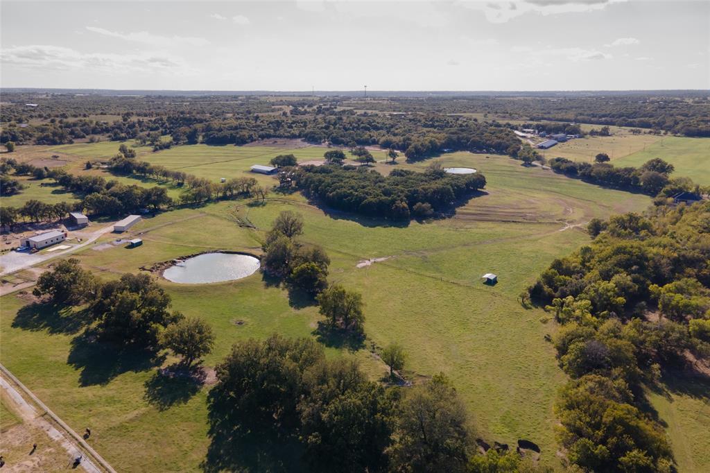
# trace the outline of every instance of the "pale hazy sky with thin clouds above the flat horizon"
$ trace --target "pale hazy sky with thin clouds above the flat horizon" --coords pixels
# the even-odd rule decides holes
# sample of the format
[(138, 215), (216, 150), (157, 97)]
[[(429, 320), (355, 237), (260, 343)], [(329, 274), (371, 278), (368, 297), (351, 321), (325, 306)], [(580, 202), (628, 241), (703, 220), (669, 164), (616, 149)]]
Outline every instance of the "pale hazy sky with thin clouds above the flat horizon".
[(710, 2), (3, 0), (0, 85), (710, 88)]

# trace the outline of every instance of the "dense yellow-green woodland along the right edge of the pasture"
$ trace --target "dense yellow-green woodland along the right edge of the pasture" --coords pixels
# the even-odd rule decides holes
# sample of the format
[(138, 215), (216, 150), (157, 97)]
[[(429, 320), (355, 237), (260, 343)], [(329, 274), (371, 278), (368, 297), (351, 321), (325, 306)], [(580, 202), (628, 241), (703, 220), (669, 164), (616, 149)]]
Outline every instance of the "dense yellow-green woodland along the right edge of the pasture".
[[(590, 471), (672, 471), (641, 383), (710, 356), (710, 202), (595, 220), (595, 236), (553, 261), (530, 298), (563, 327), (557, 358), (572, 381), (557, 399), (569, 460)], [(649, 317), (652, 312), (657, 317)]]

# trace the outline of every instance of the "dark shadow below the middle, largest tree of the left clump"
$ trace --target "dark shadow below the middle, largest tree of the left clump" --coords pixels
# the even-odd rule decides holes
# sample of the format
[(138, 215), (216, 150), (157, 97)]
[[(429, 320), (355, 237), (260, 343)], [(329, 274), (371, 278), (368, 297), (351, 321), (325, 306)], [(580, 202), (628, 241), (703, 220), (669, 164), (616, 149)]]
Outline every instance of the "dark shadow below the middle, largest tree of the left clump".
[(108, 384), (124, 373), (147, 371), (160, 366), (165, 355), (138, 347), (123, 347), (97, 339), (93, 332), (86, 331), (72, 339), (67, 364), (81, 369), (80, 386)]

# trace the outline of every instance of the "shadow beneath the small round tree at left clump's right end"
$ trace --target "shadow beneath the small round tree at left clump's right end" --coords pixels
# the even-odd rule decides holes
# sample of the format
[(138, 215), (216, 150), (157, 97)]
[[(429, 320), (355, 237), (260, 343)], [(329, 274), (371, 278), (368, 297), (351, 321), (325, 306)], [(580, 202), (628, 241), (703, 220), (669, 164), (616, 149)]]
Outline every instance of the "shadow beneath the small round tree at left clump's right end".
[(182, 365), (172, 365), (155, 371), (143, 384), (146, 393), (143, 398), (158, 411), (167, 411), (175, 404), (184, 404), (195, 396), (204, 385), (204, 373), (200, 369), (185, 369)]

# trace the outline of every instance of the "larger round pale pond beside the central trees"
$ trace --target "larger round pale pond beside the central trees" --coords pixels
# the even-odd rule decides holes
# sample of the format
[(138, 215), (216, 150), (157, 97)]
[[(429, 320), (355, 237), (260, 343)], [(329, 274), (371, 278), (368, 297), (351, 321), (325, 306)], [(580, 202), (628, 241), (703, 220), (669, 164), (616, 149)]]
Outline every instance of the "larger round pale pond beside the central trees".
[(259, 260), (246, 254), (205, 253), (163, 271), (173, 283), (204, 284), (246, 278), (258, 270)]

